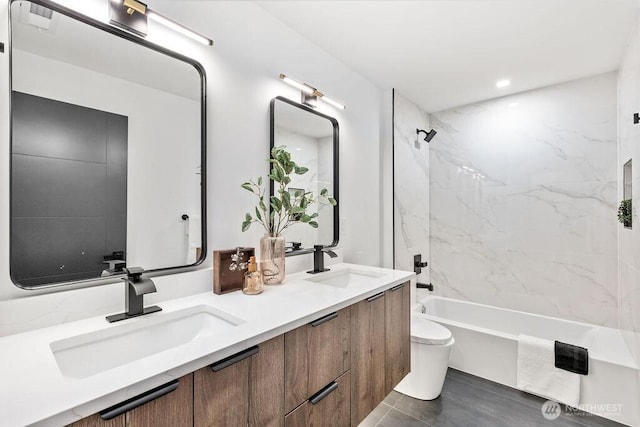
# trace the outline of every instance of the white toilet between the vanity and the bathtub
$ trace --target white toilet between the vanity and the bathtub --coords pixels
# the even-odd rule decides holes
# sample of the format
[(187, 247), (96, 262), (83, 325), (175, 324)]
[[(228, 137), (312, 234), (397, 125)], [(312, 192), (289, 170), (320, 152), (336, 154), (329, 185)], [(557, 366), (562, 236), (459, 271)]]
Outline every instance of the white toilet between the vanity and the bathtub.
[(440, 396), (454, 342), (447, 328), (412, 311), (411, 372), (395, 390), (421, 400)]

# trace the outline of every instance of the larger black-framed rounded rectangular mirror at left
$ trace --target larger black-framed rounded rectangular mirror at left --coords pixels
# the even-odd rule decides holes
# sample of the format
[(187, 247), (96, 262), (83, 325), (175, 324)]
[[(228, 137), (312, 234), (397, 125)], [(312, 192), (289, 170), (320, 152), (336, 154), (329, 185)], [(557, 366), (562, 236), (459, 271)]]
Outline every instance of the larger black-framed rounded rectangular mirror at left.
[(45, 0), (10, 21), (14, 283), (201, 263), (203, 68)]

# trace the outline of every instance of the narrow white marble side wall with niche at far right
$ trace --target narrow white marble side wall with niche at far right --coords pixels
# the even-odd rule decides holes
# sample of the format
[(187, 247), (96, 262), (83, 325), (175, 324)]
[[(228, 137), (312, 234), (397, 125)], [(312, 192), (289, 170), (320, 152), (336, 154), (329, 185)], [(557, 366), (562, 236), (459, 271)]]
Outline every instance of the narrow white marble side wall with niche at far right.
[[(618, 77), (618, 168), (622, 179), (622, 167), (633, 160), (633, 228), (618, 226), (618, 298), (620, 329), (635, 360), (640, 361), (640, 124), (633, 124), (633, 114), (640, 112), (640, 25), (629, 37), (625, 56)], [(637, 159), (637, 160), (636, 160)], [(616, 201), (623, 198), (622, 186), (618, 188)], [(634, 334), (635, 333), (635, 334)]]

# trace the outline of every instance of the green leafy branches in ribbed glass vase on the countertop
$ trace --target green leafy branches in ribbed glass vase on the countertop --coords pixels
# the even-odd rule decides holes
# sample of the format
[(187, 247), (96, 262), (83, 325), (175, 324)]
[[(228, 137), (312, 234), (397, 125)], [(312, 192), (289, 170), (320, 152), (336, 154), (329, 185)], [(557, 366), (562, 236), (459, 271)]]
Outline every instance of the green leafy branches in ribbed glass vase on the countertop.
[(326, 188), (317, 195), (312, 191), (296, 190), (292, 198), (288, 188), (291, 176), (304, 175), (309, 169), (296, 164), (285, 146), (273, 147), (269, 162), (269, 179), (275, 185), (273, 196), (267, 196), (267, 186), (262, 177), (242, 184), (242, 188), (258, 198), (253, 212), (245, 214), (242, 231), (247, 231), (253, 223), (264, 227), (265, 235), (260, 239), (262, 273), (265, 283), (272, 285), (284, 280), (285, 241), (282, 233), (296, 223), (318, 228), (318, 213), (311, 212), (311, 208), (321, 203), (335, 206), (337, 202)]

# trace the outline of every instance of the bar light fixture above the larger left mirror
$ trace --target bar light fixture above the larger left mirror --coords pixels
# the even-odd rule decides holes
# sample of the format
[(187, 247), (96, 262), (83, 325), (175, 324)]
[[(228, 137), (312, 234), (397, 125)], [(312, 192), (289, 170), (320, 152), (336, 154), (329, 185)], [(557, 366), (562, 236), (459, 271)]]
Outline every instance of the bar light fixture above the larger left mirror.
[(149, 18), (204, 45), (213, 46), (213, 40), (160, 15), (138, 0), (110, 0), (110, 5), (110, 23), (141, 37), (147, 35), (147, 18)]

